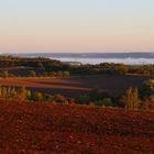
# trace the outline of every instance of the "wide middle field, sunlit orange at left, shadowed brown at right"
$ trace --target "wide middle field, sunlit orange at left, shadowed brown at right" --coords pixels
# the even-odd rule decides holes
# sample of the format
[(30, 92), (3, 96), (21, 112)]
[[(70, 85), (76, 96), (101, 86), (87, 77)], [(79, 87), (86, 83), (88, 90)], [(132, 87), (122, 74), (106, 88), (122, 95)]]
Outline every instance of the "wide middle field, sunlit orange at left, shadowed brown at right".
[(0, 79), (0, 85), (25, 86), (32, 90), (45, 91), (48, 94), (63, 94), (67, 97), (77, 97), (92, 88), (100, 88), (102, 91), (119, 96), (125, 92), (130, 86), (139, 86), (142, 81), (151, 78), (140, 75), (100, 75), (78, 76), (67, 78), (13, 78)]

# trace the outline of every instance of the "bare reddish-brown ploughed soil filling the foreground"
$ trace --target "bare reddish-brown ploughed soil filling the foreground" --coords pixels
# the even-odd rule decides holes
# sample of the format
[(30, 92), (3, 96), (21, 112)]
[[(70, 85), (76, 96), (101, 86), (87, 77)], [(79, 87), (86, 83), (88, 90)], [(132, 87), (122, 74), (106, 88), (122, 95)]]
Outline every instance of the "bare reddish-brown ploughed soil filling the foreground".
[(154, 112), (0, 103), (0, 153), (154, 153)]

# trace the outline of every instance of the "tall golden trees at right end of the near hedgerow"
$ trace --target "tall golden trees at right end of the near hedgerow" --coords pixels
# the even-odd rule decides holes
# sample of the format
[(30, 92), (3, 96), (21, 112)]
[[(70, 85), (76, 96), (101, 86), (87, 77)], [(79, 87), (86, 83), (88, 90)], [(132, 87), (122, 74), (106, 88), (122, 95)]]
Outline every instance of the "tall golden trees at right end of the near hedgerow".
[(119, 102), (129, 110), (154, 109), (154, 79), (146, 80), (139, 88), (130, 87)]

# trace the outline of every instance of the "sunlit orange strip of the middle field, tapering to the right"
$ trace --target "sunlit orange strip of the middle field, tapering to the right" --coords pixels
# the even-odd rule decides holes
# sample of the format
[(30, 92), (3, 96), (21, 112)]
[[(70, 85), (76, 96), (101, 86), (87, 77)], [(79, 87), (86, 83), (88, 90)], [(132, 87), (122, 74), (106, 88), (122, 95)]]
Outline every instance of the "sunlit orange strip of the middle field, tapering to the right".
[(84, 88), (79, 84), (72, 80), (61, 78), (16, 78), (16, 79), (0, 79), (3, 86), (25, 86), (29, 88), (51, 88), (51, 89), (73, 89), (89, 91), (90, 88)]

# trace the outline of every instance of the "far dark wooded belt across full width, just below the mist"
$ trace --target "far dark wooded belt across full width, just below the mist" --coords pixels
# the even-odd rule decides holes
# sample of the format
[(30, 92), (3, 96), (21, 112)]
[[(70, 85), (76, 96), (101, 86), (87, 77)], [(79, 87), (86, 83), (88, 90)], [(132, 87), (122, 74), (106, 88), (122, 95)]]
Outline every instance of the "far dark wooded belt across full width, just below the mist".
[[(11, 67), (31, 67), (33, 70), (38, 69), (47, 76), (51, 73), (69, 72), (72, 75), (97, 75), (97, 74), (142, 74), (154, 75), (154, 65), (130, 66), (124, 64), (102, 63), (97, 65), (69, 65), (59, 61), (44, 57), (13, 57), (0, 56), (0, 68), (8, 69)], [(36, 73), (37, 75), (37, 73)]]

